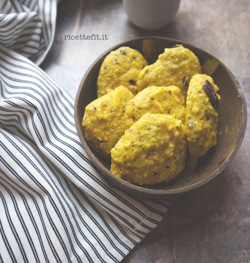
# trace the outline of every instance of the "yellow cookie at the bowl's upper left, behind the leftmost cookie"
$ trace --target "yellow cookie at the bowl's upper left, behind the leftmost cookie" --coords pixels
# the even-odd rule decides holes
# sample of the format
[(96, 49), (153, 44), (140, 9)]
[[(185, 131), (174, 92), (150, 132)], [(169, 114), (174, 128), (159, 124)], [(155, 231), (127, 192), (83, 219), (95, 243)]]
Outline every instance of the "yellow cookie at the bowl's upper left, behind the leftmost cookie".
[(134, 95), (137, 94), (136, 81), (140, 71), (148, 65), (147, 60), (136, 49), (120, 47), (111, 51), (101, 65), (97, 78), (97, 97), (106, 94), (106, 90), (114, 90), (123, 85)]

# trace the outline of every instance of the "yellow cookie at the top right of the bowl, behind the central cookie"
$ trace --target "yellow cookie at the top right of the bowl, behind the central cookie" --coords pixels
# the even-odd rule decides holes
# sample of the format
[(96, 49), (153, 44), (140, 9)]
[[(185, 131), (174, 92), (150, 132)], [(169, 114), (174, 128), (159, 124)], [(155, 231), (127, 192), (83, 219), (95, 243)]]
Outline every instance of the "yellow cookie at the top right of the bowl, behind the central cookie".
[(176, 45), (165, 49), (154, 64), (141, 70), (137, 80), (138, 92), (149, 86), (175, 85), (186, 99), (188, 83), (197, 73), (201, 73), (197, 56), (183, 45)]

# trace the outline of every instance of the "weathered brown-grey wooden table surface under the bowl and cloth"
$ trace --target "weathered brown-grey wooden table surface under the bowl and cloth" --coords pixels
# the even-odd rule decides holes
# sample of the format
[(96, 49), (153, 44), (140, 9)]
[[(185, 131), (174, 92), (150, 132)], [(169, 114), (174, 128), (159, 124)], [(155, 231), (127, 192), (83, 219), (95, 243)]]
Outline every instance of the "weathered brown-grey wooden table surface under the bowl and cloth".
[[(54, 44), (41, 67), (75, 98), (89, 65), (106, 49), (139, 36), (180, 39), (220, 59), (239, 80), (250, 112), (249, 0), (182, 0), (173, 22), (157, 31), (131, 24), (121, 0), (61, 1)], [(106, 34), (108, 40), (64, 40)], [(250, 122), (233, 161), (215, 179), (169, 195), (162, 222), (122, 261), (250, 262)]]

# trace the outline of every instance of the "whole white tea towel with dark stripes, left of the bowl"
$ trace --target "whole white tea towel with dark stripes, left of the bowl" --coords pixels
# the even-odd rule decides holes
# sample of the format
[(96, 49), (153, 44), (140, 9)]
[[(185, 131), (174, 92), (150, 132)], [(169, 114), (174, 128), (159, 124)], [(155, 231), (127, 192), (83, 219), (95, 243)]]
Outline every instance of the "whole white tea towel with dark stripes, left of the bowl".
[(55, 1), (1, 1), (0, 262), (119, 262), (168, 201), (133, 197), (98, 173), (73, 100), (31, 62), (53, 41)]

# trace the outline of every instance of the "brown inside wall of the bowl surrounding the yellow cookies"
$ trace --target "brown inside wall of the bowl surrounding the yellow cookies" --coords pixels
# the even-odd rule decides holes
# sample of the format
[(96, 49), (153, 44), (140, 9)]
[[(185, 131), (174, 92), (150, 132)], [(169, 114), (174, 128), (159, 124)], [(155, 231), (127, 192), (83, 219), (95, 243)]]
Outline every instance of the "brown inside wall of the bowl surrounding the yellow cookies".
[[(110, 160), (100, 157), (89, 146), (84, 138), (83, 127), (81, 126), (84, 110), (91, 101), (97, 98), (96, 81), (98, 72), (103, 59), (111, 50), (115, 50), (120, 46), (129, 46), (133, 49), (138, 49), (151, 64), (158, 58), (159, 54), (163, 53), (164, 48), (169, 48), (174, 44), (183, 44), (184, 47), (192, 50), (200, 59), (202, 73), (211, 75), (220, 89), (221, 102), (219, 106), (217, 144), (203, 157), (194, 158), (187, 155), (185, 170), (171, 182), (137, 186), (125, 182), (110, 173)], [(246, 104), (242, 90), (235, 77), (224, 64), (211, 54), (174, 39), (160, 37), (138, 38), (114, 46), (102, 54), (90, 66), (83, 76), (76, 96), (75, 124), (83, 147), (88, 152), (93, 163), (115, 186), (133, 193), (135, 191), (153, 194), (179, 193), (208, 182), (232, 160), (243, 140), (246, 128)]]

